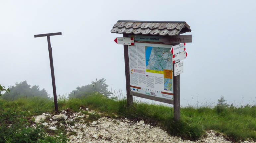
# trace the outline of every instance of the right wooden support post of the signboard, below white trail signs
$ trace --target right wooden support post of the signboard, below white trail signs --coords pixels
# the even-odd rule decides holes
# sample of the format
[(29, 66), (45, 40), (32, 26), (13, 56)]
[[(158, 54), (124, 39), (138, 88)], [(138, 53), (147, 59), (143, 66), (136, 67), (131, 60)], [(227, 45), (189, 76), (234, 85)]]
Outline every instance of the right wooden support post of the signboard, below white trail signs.
[[(174, 64), (173, 64), (174, 65)], [(173, 66), (174, 70), (174, 66)], [(180, 121), (180, 89), (179, 75), (173, 76), (173, 114), (175, 121)]]

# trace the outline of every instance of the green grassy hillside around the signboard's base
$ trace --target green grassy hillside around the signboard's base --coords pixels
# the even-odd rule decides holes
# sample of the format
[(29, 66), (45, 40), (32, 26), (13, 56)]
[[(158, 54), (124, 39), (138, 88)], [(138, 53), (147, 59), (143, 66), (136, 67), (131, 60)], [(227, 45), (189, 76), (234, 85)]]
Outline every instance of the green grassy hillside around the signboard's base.
[[(252, 138), (256, 140), (256, 106), (230, 107), (230, 108), (209, 108), (194, 107), (181, 108), (181, 121), (179, 123), (173, 120), (173, 108), (134, 102), (133, 107), (126, 106), (126, 100), (111, 100), (101, 95), (95, 94), (87, 98), (74, 98), (58, 100), (59, 110), (69, 108), (73, 111), (79, 111), (80, 107), (89, 107), (90, 109), (101, 111), (105, 116), (112, 118), (138, 118), (152, 124), (159, 124), (169, 134), (179, 136), (183, 139), (196, 140), (205, 134), (205, 130), (216, 130), (224, 133), (231, 140), (245, 140)], [(43, 98), (22, 98), (15, 101), (6, 101), (0, 99), (0, 124), (16, 124), (15, 122), (6, 122), (4, 117), (8, 113), (8, 118), (14, 118), (16, 114), (21, 114), (19, 119), (31, 120), (33, 115), (41, 113), (54, 113), (54, 103), (52, 100)], [(28, 121), (27, 124), (29, 124)], [(6, 132), (0, 128), (0, 132)], [(0, 141), (6, 140), (0, 133)], [(12, 133), (7, 133), (12, 136)], [(43, 138), (47, 140), (47, 138)], [(58, 138), (64, 140), (65, 136)]]

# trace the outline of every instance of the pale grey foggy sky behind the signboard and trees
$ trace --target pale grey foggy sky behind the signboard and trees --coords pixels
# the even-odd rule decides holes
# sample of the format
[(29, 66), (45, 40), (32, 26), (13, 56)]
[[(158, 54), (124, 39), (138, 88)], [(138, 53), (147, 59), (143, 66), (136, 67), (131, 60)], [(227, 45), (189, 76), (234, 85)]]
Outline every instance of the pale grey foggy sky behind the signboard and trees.
[[(180, 75), (181, 105), (256, 104), (256, 1), (1, 1), (0, 84), (27, 80), (52, 96), (46, 37), (51, 36), (57, 95), (106, 78), (126, 92), (117, 20), (186, 21), (192, 43)], [(244, 97), (244, 98), (243, 98)], [(193, 99), (192, 99), (193, 98)], [(136, 98), (139, 99), (139, 98)]]

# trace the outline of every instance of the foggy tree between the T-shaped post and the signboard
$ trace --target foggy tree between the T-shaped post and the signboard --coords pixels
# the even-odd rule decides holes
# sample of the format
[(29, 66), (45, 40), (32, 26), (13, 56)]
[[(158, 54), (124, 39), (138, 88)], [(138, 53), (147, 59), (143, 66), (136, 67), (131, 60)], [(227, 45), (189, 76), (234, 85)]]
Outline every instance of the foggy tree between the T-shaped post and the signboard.
[(96, 81), (92, 81), (92, 84), (77, 87), (76, 90), (73, 90), (69, 94), (69, 97), (80, 98), (82, 96), (88, 96), (93, 92), (97, 92), (108, 98), (112, 93), (107, 89), (108, 85), (105, 81), (106, 79), (104, 78), (99, 80), (96, 79)]

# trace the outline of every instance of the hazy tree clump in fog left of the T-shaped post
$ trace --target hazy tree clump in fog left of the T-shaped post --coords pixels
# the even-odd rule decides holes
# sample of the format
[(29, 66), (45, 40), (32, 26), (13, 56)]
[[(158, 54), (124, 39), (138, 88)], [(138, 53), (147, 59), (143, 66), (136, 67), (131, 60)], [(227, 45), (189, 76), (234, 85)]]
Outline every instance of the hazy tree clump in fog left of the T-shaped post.
[(49, 95), (47, 91), (43, 88), (40, 90), (39, 85), (34, 85), (31, 87), (27, 83), (27, 81), (23, 81), (20, 83), (15, 83), (15, 86), (9, 87), (10, 92), (6, 92), (3, 94), (3, 98), (7, 100), (14, 100), (21, 97), (43, 97), (43, 98), (49, 98)]

